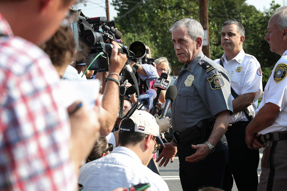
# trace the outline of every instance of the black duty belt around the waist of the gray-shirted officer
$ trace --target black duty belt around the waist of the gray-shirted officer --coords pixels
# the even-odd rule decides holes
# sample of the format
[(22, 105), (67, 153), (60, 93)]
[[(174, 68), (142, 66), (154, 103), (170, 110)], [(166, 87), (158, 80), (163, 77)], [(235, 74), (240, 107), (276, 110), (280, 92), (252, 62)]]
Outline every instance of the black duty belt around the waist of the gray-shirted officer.
[(188, 128), (182, 133), (173, 132), (173, 140), (175, 143), (180, 143), (181, 141), (194, 141), (198, 138), (208, 138), (213, 130), (215, 120), (203, 120), (202, 127), (193, 126)]

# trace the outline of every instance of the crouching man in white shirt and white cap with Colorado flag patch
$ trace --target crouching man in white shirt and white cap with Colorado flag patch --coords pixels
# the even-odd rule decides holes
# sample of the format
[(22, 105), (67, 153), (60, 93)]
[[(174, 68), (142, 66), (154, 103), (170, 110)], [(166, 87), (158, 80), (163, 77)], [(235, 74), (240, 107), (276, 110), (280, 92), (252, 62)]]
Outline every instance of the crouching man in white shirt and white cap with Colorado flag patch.
[(119, 147), (80, 168), (79, 183), (84, 190), (113, 190), (149, 183), (148, 190), (168, 191), (165, 181), (145, 166), (159, 144), (163, 144), (155, 118), (137, 110), (121, 121), (119, 127)]

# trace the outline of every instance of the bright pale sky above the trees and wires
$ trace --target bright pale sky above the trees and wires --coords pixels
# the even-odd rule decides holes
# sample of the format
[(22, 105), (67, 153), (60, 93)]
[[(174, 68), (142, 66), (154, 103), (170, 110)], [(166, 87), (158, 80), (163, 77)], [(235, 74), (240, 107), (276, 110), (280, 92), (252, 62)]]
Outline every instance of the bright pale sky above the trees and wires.
[[(247, 4), (254, 5), (260, 11), (264, 11), (264, 8), (268, 9), (270, 7), (270, 3), (272, 2), (272, 0), (247, 0), (245, 2)], [(111, 3), (112, 0), (109, 0), (110, 20), (113, 20), (113, 18), (117, 16), (117, 11), (114, 9)], [(275, 3), (281, 4), (283, 6), (287, 5), (287, 0), (275, 0)], [(84, 6), (84, 4), (86, 4), (86, 6)], [(98, 17), (98, 16), (106, 16), (105, 7), (106, 7), (105, 0), (89, 0), (86, 1), (86, 3), (76, 5), (74, 9), (76, 10), (82, 9), (82, 12), (87, 17)]]

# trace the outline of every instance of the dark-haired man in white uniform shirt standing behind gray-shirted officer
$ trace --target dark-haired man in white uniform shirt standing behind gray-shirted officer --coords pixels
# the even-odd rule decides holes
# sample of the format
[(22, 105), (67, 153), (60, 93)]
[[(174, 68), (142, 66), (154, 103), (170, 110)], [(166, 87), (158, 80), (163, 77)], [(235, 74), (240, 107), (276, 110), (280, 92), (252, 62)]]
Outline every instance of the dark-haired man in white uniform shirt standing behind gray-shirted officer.
[(215, 62), (230, 76), (233, 115), (225, 136), (228, 142), (229, 163), (225, 168), (222, 188), (231, 191), (233, 178), (239, 191), (257, 190), (259, 151), (245, 143), (245, 128), (254, 117), (258, 98), (262, 95), (262, 73), (257, 59), (242, 49), (245, 30), (238, 21), (225, 21), (221, 45), (225, 53)]

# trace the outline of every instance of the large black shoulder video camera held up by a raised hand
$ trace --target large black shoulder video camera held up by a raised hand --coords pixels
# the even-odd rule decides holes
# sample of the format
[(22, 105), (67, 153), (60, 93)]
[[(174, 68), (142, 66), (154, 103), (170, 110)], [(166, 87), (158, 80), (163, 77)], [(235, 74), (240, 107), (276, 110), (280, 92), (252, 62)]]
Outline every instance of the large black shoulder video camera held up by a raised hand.
[[(105, 72), (109, 70), (109, 58), (112, 54), (113, 45), (112, 41), (120, 39), (122, 33), (112, 26), (114, 23), (108, 23), (106, 25), (106, 17), (86, 17), (81, 10), (77, 22), (73, 23), (72, 31), (74, 33), (74, 39), (76, 42), (77, 51), (86, 51), (80, 47), (79, 41), (82, 40), (88, 47), (86, 53), (86, 63), (91, 64), (89, 70), (97, 70), (98, 72)], [(109, 41), (108, 41), (109, 40)], [(126, 46), (121, 46), (119, 53), (124, 53), (128, 57), (133, 57), (133, 53), (130, 53)], [(96, 56), (103, 52), (103, 55)]]

